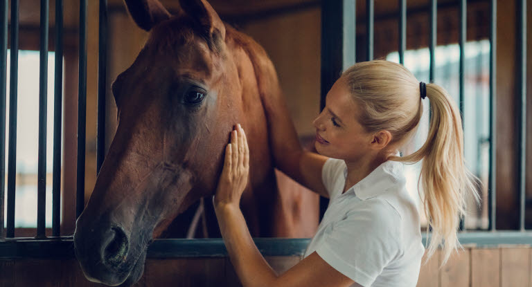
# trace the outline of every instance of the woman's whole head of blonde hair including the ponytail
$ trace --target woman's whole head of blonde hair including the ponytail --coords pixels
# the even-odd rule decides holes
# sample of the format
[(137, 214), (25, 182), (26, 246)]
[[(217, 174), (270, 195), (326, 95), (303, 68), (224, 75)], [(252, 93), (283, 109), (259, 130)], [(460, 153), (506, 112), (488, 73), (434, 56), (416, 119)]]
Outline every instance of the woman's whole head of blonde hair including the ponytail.
[[(420, 84), (407, 68), (383, 60), (360, 62), (348, 68), (342, 77), (361, 107), (357, 120), (367, 131), (389, 131), (390, 144), (398, 147), (414, 136), (423, 104)], [(459, 109), (447, 91), (437, 84), (426, 84), (426, 95), (432, 117), (425, 144), (413, 154), (389, 159), (402, 163), (417, 163), (423, 159), (419, 180), (425, 192), (422, 202), (429, 224), (427, 242), (428, 230), (432, 228), (426, 258), (432, 257), (438, 245), (445, 241), (443, 266), (456, 248), (462, 248), (456, 233), (459, 218), (465, 214), (466, 198), (473, 195), (479, 203), (480, 196), (477, 178), (464, 163)]]

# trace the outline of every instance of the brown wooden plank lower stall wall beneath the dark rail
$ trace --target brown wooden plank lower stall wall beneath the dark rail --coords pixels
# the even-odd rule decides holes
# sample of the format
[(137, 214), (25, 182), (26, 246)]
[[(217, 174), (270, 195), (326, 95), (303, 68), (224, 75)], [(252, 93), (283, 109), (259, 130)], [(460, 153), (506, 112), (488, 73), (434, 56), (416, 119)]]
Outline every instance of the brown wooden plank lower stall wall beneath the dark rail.
[[(529, 287), (532, 284), (532, 248), (466, 247), (438, 269), (440, 251), (421, 266), (418, 287)], [(266, 257), (282, 274), (300, 257)], [(425, 260), (425, 257), (423, 258)], [(227, 257), (148, 259), (135, 287), (241, 286)], [(82, 274), (76, 259), (0, 260), (0, 287), (102, 286)]]

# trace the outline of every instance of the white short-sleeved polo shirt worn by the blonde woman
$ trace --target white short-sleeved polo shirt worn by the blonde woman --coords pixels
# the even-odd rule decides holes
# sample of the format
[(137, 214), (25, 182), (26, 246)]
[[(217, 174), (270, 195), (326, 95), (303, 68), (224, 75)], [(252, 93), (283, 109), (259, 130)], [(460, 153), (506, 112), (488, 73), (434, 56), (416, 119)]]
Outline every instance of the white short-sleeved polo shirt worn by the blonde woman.
[(415, 287), (425, 246), (403, 164), (388, 160), (344, 194), (347, 167), (329, 158), (321, 178), (329, 205), (305, 251), (358, 284)]

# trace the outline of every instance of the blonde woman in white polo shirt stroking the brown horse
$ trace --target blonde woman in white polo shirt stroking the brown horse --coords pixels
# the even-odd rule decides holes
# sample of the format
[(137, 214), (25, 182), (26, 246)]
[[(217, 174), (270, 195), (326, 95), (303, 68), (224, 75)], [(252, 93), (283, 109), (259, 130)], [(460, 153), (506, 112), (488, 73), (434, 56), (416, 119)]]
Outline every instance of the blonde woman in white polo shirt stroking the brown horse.
[[(425, 98), (432, 108), (427, 141), (400, 157), (416, 132)], [(442, 241), (442, 265), (461, 247), (456, 229), (465, 198), (473, 195), (479, 202), (479, 195), (464, 164), (459, 111), (443, 88), (418, 82), (393, 62), (351, 66), (313, 122), (319, 154), (303, 151), (284, 102), (281, 106), (266, 108), (276, 167), (330, 203), (305, 258), (277, 275), (258, 252), (239, 209), (249, 150), (238, 124), (213, 202), (243, 286), (416, 286), (425, 247), (402, 167), (422, 159), (423, 204), (432, 228), (427, 259)]]

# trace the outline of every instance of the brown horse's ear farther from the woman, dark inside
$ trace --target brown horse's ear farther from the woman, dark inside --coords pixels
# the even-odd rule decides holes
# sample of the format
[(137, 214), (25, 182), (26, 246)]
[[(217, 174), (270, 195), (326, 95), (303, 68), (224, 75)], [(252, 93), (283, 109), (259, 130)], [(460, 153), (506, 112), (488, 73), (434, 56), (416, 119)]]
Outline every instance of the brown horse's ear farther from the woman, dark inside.
[(170, 13), (159, 0), (124, 0), (136, 25), (149, 31), (159, 22), (170, 18)]

